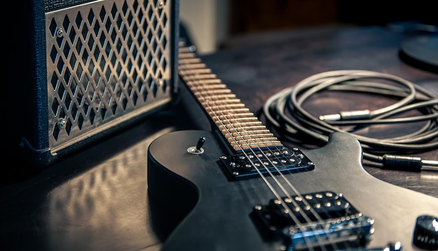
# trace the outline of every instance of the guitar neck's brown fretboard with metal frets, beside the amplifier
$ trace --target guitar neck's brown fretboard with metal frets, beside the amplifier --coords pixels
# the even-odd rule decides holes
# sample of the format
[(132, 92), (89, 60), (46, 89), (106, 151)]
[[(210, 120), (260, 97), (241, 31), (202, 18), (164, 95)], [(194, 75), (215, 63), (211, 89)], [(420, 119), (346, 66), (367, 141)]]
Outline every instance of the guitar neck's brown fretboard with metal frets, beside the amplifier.
[(180, 43), (178, 55), (178, 73), (183, 82), (234, 151), (282, 146), (190, 47)]

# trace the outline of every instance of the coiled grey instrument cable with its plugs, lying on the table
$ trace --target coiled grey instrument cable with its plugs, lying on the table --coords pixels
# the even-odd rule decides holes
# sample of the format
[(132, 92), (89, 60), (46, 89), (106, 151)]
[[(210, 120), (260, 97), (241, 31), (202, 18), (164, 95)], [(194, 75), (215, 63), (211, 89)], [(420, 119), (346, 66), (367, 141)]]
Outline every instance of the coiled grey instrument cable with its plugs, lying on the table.
[[(303, 104), (314, 98), (316, 93), (325, 91), (369, 93), (395, 98), (396, 101), (380, 109), (313, 116), (304, 109)], [(401, 77), (369, 70), (319, 73), (271, 96), (264, 103), (262, 112), (266, 116), (267, 126), (276, 130), (283, 137), (282, 140), (299, 144), (311, 140), (326, 144), (330, 133), (346, 132), (358, 139), (365, 160), (388, 169), (438, 171), (436, 160), (407, 156), (438, 148), (438, 98)], [(387, 138), (367, 136), (372, 126), (418, 122), (424, 125), (404, 135)], [(397, 130), (400, 131), (403, 130)]]

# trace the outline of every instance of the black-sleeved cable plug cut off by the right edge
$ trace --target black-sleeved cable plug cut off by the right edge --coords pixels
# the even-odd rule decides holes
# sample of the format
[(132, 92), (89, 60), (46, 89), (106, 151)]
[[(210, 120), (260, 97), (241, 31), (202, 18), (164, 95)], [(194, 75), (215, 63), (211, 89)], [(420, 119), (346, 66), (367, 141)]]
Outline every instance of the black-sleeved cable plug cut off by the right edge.
[(422, 160), (419, 157), (400, 155), (383, 155), (383, 167), (393, 170), (421, 172), (422, 170), (438, 171), (438, 161)]

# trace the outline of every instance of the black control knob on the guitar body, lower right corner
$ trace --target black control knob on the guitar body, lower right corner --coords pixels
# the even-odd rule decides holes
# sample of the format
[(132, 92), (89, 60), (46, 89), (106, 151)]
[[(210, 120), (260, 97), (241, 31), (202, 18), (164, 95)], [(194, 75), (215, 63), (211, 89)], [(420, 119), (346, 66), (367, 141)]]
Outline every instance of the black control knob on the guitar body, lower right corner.
[(425, 250), (438, 250), (438, 218), (430, 215), (418, 216), (413, 243)]

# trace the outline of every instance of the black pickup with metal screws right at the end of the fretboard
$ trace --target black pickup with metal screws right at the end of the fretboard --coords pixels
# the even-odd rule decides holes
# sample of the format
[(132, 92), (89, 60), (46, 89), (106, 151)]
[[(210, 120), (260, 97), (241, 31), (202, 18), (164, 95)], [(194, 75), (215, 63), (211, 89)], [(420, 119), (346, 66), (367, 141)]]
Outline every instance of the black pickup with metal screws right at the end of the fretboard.
[(250, 178), (260, 174), (279, 174), (313, 170), (315, 164), (297, 148), (251, 151), (220, 158), (234, 179)]

